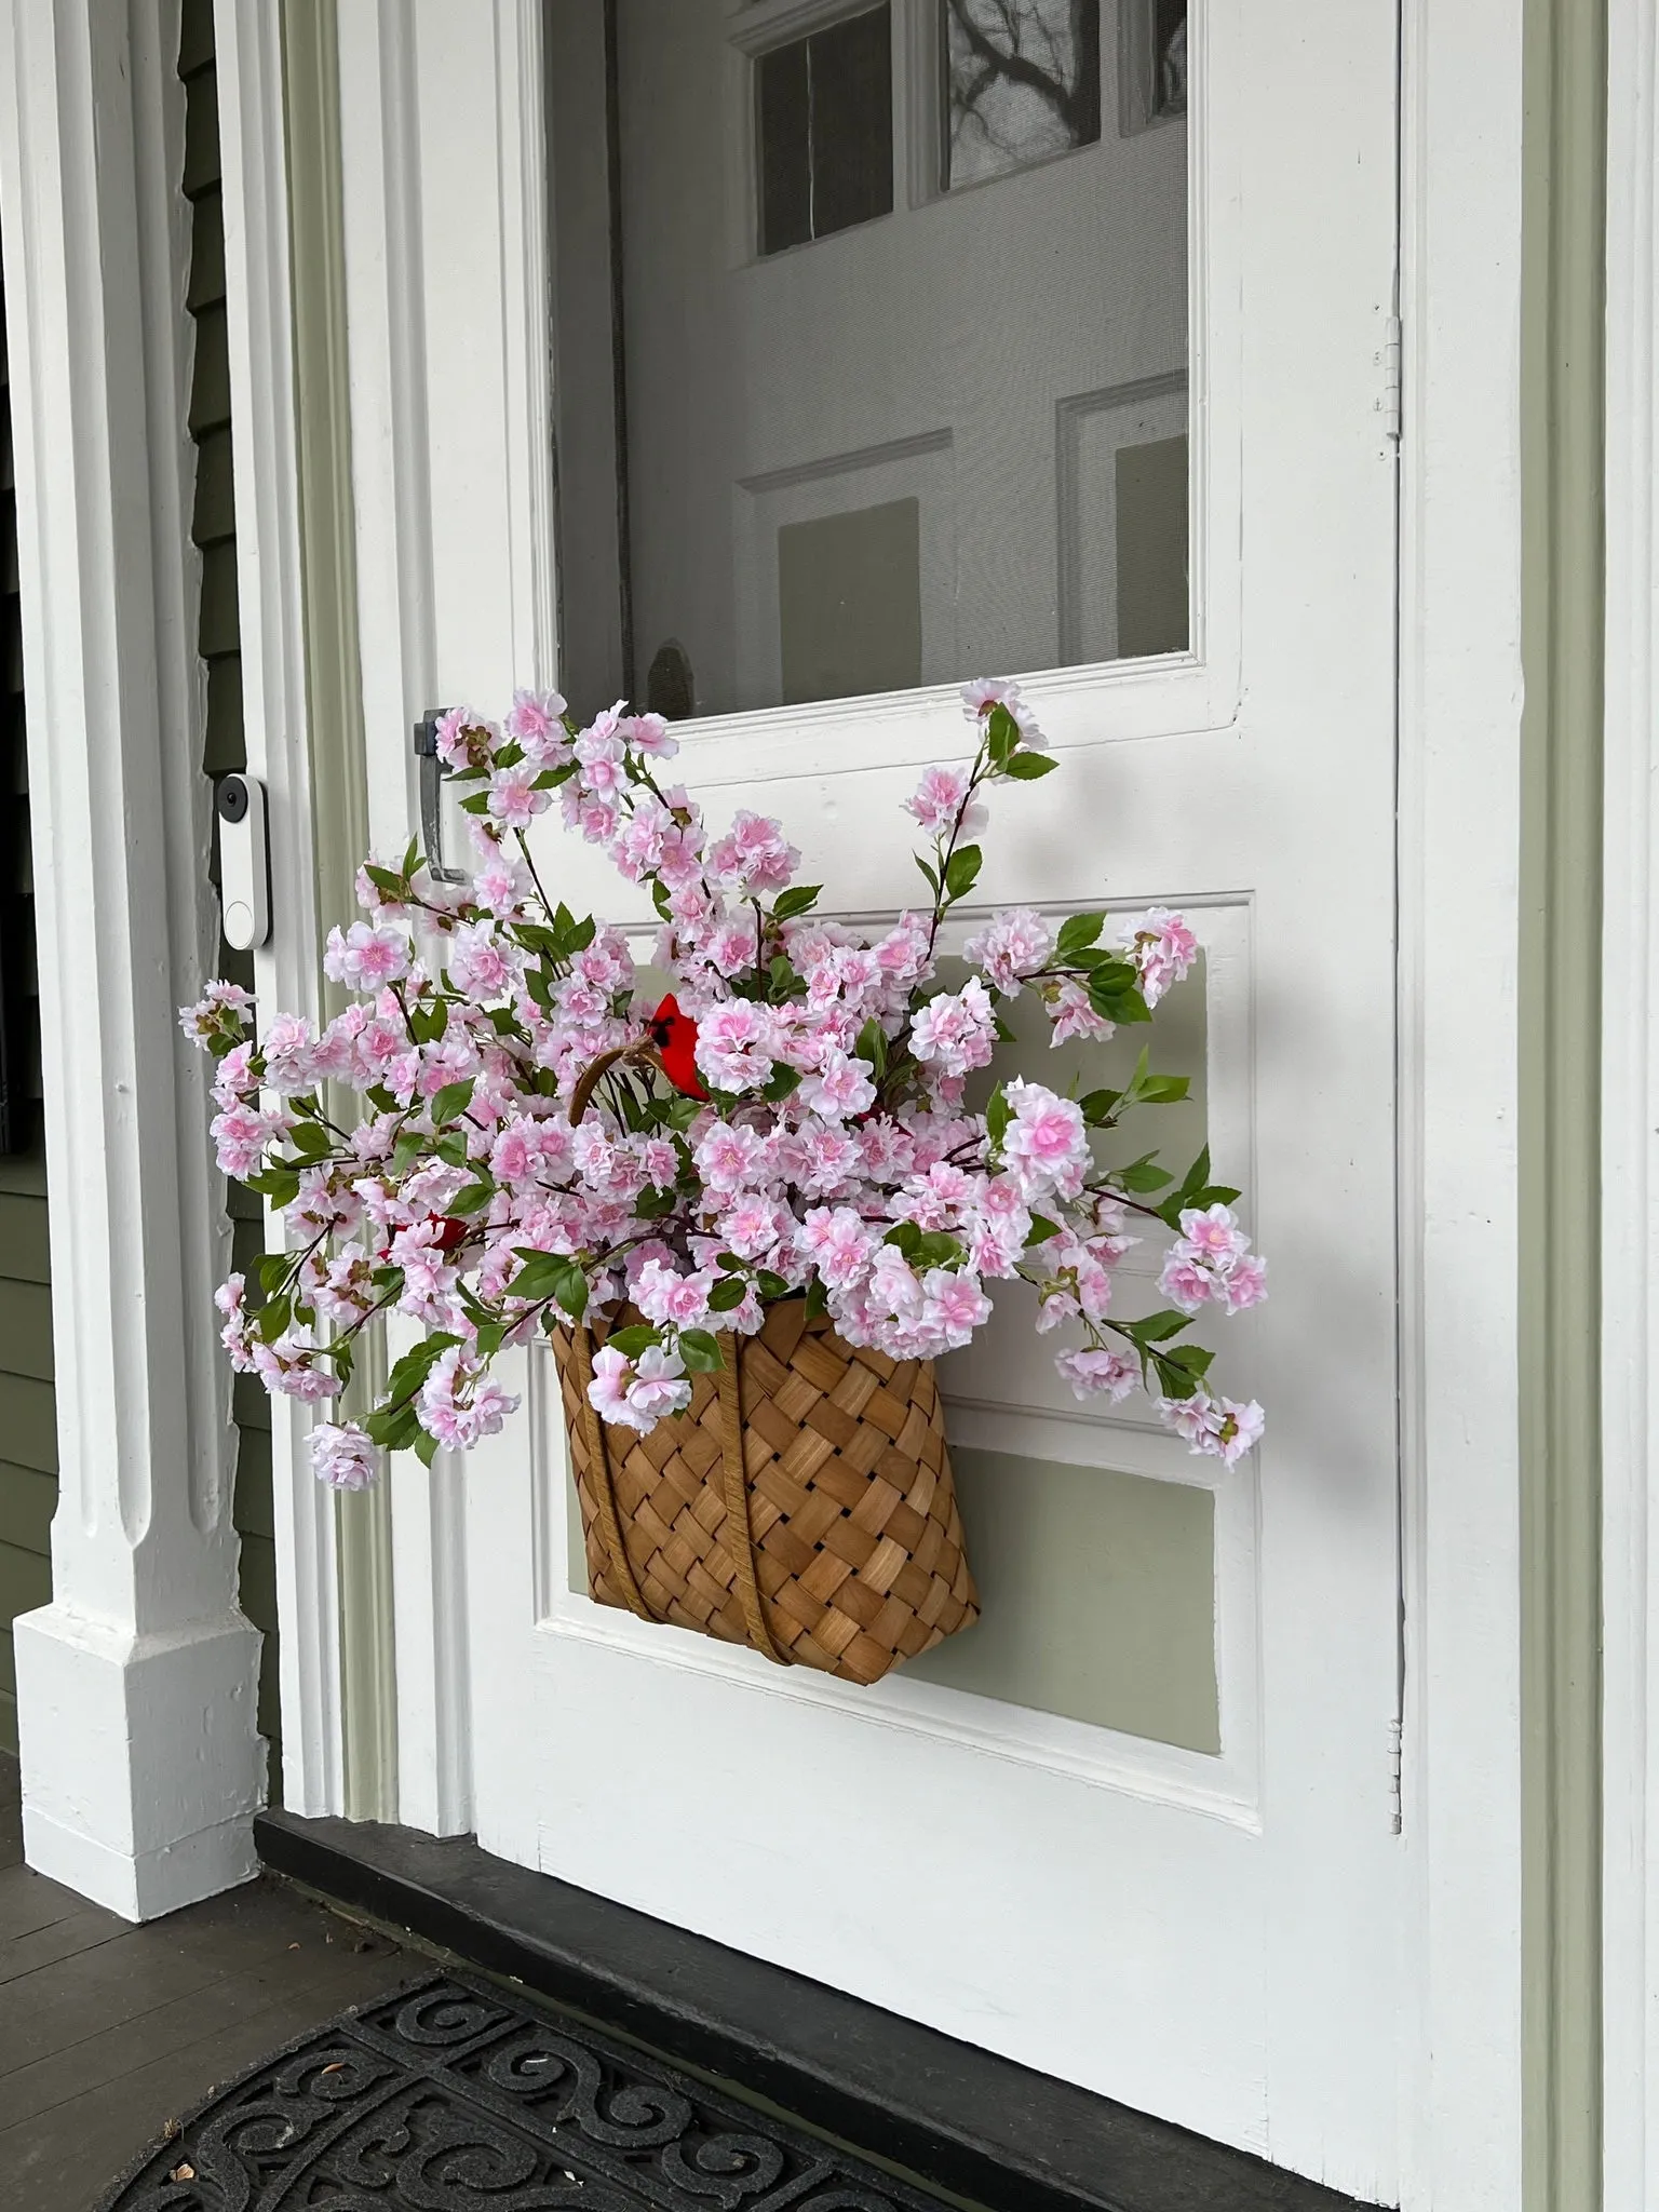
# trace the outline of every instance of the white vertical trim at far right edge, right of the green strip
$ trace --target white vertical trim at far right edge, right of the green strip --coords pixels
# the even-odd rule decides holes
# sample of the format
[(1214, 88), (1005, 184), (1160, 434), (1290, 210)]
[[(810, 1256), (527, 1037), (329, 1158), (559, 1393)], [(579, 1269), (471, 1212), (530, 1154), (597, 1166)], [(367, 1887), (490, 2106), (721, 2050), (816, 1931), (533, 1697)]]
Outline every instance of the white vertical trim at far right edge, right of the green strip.
[(1608, 7), (1601, 975), (1604, 2212), (1659, 2203), (1659, 35)]

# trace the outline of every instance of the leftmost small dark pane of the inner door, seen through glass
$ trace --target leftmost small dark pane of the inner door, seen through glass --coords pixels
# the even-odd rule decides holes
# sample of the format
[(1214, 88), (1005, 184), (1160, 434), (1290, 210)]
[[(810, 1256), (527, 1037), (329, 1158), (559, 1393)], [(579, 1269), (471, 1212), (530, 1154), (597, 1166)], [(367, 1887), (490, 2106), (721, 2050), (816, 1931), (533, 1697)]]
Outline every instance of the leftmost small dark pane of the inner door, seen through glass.
[(894, 212), (891, 7), (763, 53), (754, 106), (763, 254)]

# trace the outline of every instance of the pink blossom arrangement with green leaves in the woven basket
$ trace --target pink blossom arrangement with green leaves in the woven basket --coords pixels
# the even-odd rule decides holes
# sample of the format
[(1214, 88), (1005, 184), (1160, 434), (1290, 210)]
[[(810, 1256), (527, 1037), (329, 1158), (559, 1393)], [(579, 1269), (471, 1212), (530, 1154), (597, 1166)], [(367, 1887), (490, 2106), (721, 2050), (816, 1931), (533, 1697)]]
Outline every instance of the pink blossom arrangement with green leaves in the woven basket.
[[(1018, 909), (967, 942), (960, 989), (938, 975), (947, 916), (980, 876), (987, 796), (1057, 763), (1013, 684), (971, 684), (967, 765), (929, 768), (909, 801), (927, 836), (927, 900), (880, 936), (818, 914), (779, 823), (739, 812), (712, 834), (668, 779), (677, 741), (619, 703), (577, 730), (564, 701), (520, 692), (502, 723), (453, 710), (438, 750), (465, 790), (478, 869), (438, 878), (416, 845), (365, 865), (365, 920), (334, 929), (325, 969), (356, 1000), (321, 1031), (279, 1013), (254, 1035), (228, 982), (184, 1011), (217, 1060), (219, 1166), (288, 1228), (219, 1290), (223, 1345), (272, 1394), (332, 1400), (363, 1332), (405, 1314), (420, 1340), (374, 1409), (321, 1420), (323, 1482), (361, 1489), (380, 1451), (467, 1449), (515, 1411), (491, 1371), (504, 1345), (608, 1318), (584, 1369), (613, 1431), (648, 1436), (692, 1400), (726, 1347), (781, 1301), (805, 1301), (854, 1347), (931, 1360), (1020, 1281), (1079, 1400), (1146, 1389), (1192, 1451), (1232, 1464), (1261, 1436), (1254, 1402), (1210, 1387), (1192, 1316), (1256, 1305), (1265, 1265), (1208, 1152), (1172, 1175), (1117, 1144), (1186, 1079), (1141, 1053), (1121, 1091), (964, 1093), (1006, 1035), (1000, 1002), (1035, 993), (1053, 1044), (1150, 1022), (1197, 942), (1164, 909), (1108, 936)], [(573, 916), (538, 876), (526, 832), (566, 825), (646, 885), (661, 918), (639, 998), (622, 929)], [(653, 993), (655, 1000), (655, 993)], [(341, 1086), (356, 1117), (330, 1104)], [(1126, 1157), (1113, 1157), (1115, 1152)], [(1164, 1310), (1113, 1314), (1113, 1272), (1139, 1234), (1170, 1237)]]

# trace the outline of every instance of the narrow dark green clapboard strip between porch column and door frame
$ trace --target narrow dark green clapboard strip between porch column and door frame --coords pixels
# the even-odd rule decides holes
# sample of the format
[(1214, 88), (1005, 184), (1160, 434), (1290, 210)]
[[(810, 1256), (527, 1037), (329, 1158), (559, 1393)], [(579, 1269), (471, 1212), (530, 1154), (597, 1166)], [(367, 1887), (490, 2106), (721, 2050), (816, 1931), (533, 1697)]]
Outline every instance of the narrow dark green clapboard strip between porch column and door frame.
[[(201, 768), (223, 776), (248, 765), (241, 732), (241, 628), (237, 622), (237, 480), (230, 460), (230, 354), (226, 345), (226, 226), (219, 173), (219, 77), (212, 46), (212, 0), (184, 0), (179, 22), (184, 84), (184, 197), (190, 201), (190, 279), (186, 307), (195, 321), (190, 369), (190, 438), (197, 449), (190, 538), (201, 553), (197, 650), (208, 670), (208, 721)], [(219, 880), (219, 860), (212, 858)], [(219, 947), (219, 973), (252, 984), (252, 960)], [(206, 1141), (206, 1137), (204, 1137)], [(261, 1250), (259, 1201), (230, 1186), (232, 1263), (252, 1272)], [(259, 1728), (272, 1745), (270, 1785), (276, 1796), (276, 1553), (270, 1511), (270, 1407), (265, 1394), (237, 1383), (237, 1528), (241, 1531), (241, 1610), (263, 1630)], [(4, 1526), (0, 1526), (4, 1537)]]

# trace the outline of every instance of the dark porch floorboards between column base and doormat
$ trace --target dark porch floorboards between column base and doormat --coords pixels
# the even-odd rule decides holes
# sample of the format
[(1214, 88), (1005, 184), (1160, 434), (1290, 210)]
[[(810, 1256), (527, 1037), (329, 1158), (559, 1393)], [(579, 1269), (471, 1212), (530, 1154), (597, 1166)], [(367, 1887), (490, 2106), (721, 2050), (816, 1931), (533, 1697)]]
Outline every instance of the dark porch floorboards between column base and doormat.
[(88, 2212), (166, 2121), (425, 1960), (265, 1878), (131, 1927), (22, 1865), (0, 1752), (0, 2205)]

